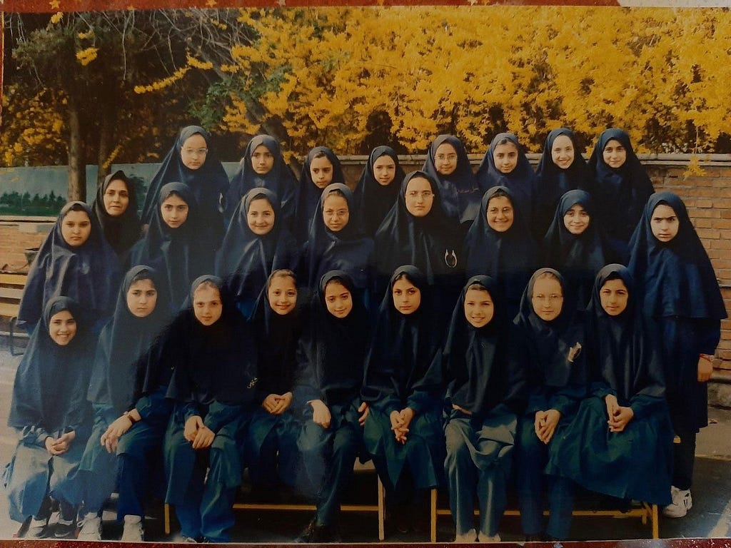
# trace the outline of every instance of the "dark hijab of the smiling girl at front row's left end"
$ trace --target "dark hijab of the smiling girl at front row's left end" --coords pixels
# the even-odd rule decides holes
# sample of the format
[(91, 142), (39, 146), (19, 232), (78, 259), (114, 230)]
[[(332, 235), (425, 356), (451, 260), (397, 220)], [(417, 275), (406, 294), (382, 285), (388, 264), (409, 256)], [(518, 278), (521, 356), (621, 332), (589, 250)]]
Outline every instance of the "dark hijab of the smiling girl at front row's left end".
[[(69, 311), (77, 324), (75, 337), (65, 346), (49, 333), (50, 319), (61, 311)], [(69, 297), (51, 297), (15, 373), (7, 425), (41, 427), (56, 437), (88, 422), (86, 390), (93, 357), (94, 340), (80, 305)]]

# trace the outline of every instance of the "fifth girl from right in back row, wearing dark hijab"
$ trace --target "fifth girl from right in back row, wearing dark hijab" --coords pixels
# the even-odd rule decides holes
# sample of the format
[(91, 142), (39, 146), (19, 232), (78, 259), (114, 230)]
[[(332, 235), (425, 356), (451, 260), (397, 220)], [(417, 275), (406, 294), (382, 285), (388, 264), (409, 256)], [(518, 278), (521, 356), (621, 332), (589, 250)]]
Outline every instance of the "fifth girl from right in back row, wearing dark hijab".
[(376, 230), (396, 203), (399, 183), (404, 180), (404, 175), (393, 148), (378, 146), (371, 151), (354, 192), (356, 208), (363, 218), (368, 237), (376, 235)]

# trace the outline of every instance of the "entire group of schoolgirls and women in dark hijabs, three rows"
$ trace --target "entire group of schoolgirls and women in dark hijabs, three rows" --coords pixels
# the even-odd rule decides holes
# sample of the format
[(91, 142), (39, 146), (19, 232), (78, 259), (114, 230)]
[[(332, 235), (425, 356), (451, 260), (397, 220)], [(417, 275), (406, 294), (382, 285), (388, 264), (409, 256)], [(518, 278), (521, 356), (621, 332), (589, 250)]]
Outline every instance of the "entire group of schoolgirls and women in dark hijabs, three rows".
[(161, 500), (179, 539), (230, 541), (245, 479), (313, 501), (299, 541), (348, 541), (357, 460), (394, 536), (434, 488), (462, 543), (500, 541), (509, 492), (528, 541), (571, 539), (578, 490), (691, 511), (727, 313), (624, 130), (587, 161), (554, 129), (536, 170), (512, 133), (476, 171), (454, 135), (409, 173), (382, 145), (350, 183), (325, 146), (295, 177), (264, 134), (229, 180), (187, 126), (142, 203), (116, 171), (64, 206), (18, 314), (3, 484), (26, 538), (106, 539), (116, 493), (124, 541)]

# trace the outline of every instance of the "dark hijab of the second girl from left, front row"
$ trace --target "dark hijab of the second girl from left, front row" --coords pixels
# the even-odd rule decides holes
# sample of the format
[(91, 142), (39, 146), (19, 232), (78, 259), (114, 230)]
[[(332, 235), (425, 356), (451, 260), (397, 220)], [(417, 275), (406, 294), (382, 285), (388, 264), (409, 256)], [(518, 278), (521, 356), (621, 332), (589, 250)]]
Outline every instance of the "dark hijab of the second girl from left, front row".
[[(127, 292), (133, 283), (142, 280), (152, 281), (157, 302), (148, 316), (138, 318), (127, 307)], [(124, 276), (114, 316), (102, 330), (96, 346), (88, 389), (92, 403), (113, 406), (118, 414), (134, 405), (138, 369), (144, 367), (145, 354), (170, 319), (170, 304), (163, 288), (162, 277), (146, 265), (132, 267)]]

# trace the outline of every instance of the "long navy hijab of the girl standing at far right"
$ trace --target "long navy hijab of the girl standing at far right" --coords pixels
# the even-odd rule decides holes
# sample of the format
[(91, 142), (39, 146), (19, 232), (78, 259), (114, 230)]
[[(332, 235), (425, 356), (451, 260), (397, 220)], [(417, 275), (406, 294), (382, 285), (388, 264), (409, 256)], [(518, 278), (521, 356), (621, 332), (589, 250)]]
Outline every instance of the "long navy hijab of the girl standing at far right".
[[(678, 217), (678, 234), (667, 243), (652, 233), (651, 220), (658, 205), (670, 206)], [(648, 199), (629, 248), (629, 272), (642, 295), (646, 315), (727, 317), (711, 260), (677, 194), (656, 192)]]

